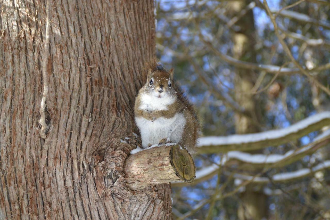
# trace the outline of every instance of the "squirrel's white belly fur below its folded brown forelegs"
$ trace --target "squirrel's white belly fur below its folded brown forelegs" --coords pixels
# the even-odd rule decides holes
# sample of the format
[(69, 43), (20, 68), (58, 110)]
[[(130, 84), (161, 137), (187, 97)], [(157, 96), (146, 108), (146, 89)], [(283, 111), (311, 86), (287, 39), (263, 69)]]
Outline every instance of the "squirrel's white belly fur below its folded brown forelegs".
[(135, 121), (140, 129), (143, 148), (158, 144), (163, 138), (179, 143), (186, 122), (183, 113), (177, 113), (170, 119), (159, 117), (153, 122), (143, 117), (135, 117)]

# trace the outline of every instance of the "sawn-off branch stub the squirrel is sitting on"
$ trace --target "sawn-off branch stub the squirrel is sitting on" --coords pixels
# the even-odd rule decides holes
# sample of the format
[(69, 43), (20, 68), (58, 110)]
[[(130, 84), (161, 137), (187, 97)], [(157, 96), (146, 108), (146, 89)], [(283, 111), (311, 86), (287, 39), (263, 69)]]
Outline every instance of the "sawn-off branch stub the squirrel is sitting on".
[(162, 145), (130, 155), (125, 162), (127, 185), (139, 190), (172, 181), (192, 182), (196, 168), (189, 152), (178, 144)]

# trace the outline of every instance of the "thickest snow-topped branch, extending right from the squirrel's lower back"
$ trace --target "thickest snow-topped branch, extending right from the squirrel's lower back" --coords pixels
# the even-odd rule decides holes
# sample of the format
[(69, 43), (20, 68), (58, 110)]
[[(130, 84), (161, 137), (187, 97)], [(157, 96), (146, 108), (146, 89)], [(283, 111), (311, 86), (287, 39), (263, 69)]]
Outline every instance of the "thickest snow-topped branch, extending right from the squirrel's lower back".
[(201, 137), (197, 151), (202, 154), (262, 149), (296, 140), (329, 124), (330, 112), (322, 112), (287, 128), (251, 134)]

